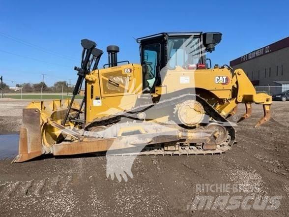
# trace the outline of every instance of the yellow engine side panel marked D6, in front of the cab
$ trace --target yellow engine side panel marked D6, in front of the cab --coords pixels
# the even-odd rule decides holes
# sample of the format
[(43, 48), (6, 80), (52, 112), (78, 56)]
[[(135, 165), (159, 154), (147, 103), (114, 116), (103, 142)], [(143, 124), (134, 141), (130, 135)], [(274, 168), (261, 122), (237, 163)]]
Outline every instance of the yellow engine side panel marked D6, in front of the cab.
[(131, 109), (143, 88), (142, 68), (139, 64), (95, 70), (86, 80), (87, 123)]

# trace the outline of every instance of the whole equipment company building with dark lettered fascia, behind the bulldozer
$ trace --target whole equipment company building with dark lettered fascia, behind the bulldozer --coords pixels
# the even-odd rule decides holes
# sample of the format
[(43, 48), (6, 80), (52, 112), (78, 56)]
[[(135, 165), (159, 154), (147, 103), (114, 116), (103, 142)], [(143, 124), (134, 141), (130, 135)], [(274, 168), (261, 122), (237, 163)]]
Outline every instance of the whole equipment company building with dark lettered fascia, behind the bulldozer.
[(254, 86), (273, 86), (276, 93), (289, 90), (289, 37), (232, 60), (230, 65), (242, 68)]

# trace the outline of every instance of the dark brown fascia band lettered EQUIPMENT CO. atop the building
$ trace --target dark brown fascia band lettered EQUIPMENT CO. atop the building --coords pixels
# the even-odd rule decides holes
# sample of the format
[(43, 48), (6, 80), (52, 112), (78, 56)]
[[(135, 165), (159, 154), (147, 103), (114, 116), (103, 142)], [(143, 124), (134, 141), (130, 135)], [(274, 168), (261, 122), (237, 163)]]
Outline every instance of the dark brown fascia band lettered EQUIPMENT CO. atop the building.
[(277, 41), (273, 44), (267, 45), (265, 47), (262, 47), (260, 49), (257, 49), (255, 51), (250, 52), (249, 54), (245, 54), (242, 57), (239, 57), (235, 60), (232, 60), (230, 62), (230, 66), (234, 66), (237, 64), (240, 64), (242, 62), (250, 61), (252, 59), (261, 57), (263, 55), (281, 50), (283, 48), (289, 47), (289, 37), (281, 39), (280, 41)]

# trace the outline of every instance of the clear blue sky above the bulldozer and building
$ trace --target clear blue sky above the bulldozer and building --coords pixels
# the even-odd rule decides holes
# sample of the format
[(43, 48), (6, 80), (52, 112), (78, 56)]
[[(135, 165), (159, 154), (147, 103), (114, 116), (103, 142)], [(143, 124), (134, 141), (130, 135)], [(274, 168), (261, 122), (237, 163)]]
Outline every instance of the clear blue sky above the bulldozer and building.
[[(118, 61), (139, 63), (134, 38), (166, 31), (219, 31), (208, 57), (229, 64), (289, 36), (287, 0), (0, 0), (0, 76), (17, 83), (74, 84), (80, 40), (106, 51), (118, 45)], [(107, 53), (99, 66), (107, 63)]]

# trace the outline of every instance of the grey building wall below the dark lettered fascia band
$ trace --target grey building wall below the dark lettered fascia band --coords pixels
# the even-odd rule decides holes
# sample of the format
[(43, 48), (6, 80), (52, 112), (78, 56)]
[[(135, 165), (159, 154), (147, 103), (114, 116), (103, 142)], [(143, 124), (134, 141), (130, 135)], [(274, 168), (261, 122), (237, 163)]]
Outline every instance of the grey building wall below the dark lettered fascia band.
[(274, 81), (289, 81), (289, 47), (233, 66), (237, 68), (243, 69), (253, 83), (259, 80), (259, 86), (277, 86)]

